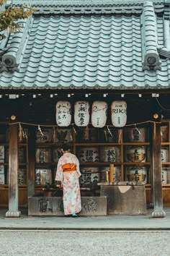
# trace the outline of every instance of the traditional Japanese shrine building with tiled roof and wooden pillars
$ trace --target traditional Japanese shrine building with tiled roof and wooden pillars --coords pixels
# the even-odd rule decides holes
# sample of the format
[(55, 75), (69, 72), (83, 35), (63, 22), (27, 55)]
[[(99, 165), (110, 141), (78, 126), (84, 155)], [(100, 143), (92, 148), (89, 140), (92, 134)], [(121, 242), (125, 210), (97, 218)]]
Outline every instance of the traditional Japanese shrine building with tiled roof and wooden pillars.
[[(27, 207), (27, 197), (45, 187), (37, 182), (40, 170), (50, 169), (53, 184), (53, 151), (69, 142), (76, 154), (116, 148), (120, 181), (137, 168), (153, 217), (164, 217), (163, 207), (170, 205), (170, 1), (29, 2), (36, 12), (0, 43), (0, 207), (9, 205), (6, 216), (19, 216), (18, 206)], [(56, 124), (58, 101), (71, 103), (68, 127)], [(76, 126), (76, 101), (88, 101), (90, 115), (94, 101), (106, 102), (104, 127), (93, 127), (91, 120)], [(113, 101), (127, 103), (124, 127), (112, 125)], [(71, 139), (63, 135), (68, 129)], [(133, 132), (129, 139), (127, 132)], [(40, 148), (52, 155), (43, 164)], [(128, 158), (135, 150), (142, 150), (142, 160)], [(81, 161), (81, 168), (101, 174), (109, 163), (100, 158)]]

